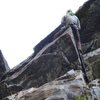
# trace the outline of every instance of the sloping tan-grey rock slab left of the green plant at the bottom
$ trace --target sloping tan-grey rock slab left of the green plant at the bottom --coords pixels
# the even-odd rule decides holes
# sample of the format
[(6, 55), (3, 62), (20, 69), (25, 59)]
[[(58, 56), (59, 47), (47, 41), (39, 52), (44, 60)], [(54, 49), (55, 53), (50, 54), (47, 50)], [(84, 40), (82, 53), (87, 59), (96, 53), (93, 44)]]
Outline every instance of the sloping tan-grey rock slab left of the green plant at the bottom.
[(25, 100), (28, 96), (30, 96), (29, 100), (75, 100), (82, 94), (85, 95), (84, 87), (86, 84), (83, 80), (81, 71), (74, 72), (72, 70), (70, 73), (66, 73), (64, 76), (58, 78), (57, 80), (47, 83), (35, 90), (29, 90), (29, 94), (29, 91), (23, 91), (17, 96), (13, 95), (12, 97), (8, 98), (10, 100)]

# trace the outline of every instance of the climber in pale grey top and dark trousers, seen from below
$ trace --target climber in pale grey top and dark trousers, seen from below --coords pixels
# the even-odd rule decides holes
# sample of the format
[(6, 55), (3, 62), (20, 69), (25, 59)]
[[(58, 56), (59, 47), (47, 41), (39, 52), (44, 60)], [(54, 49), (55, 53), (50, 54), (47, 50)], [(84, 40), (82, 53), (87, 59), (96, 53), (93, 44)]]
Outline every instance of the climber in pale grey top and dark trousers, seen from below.
[(80, 34), (79, 34), (79, 30), (81, 29), (81, 26), (78, 17), (75, 16), (75, 14), (71, 10), (68, 10), (66, 15), (62, 18), (61, 23), (64, 24), (65, 25), (64, 27), (66, 28), (67, 27), (72, 28), (76, 44), (78, 46), (78, 49), (81, 51), (82, 49), (81, 49), (81, 41), (80, 41)]

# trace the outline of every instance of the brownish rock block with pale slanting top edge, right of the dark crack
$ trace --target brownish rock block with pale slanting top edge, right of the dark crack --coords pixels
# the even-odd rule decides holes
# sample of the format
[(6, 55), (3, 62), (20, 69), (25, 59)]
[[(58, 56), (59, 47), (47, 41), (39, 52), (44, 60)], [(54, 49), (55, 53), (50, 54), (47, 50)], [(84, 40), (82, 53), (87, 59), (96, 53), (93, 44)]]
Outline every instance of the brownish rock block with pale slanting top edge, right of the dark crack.
[(100, 48), (84, 55), (84, 60), (88, 67), (88, 77), (90, 80), (100, 79)]

